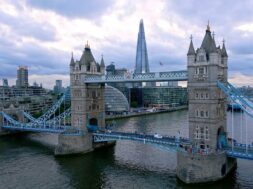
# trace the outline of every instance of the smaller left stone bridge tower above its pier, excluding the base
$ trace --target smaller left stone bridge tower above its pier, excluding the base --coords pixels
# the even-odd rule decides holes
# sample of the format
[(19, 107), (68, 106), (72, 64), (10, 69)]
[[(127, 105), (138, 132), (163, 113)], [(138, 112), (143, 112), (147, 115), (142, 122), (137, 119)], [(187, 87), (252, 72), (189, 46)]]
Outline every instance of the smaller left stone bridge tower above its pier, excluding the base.
[(104, 74), (103, 57), (98, 64), (88, 44), (85, 45), (80, 61), (75, 62), (72, 55), (70, 61), (71, 126), (82, 128), (84, 131), (105, 126), (105, 85), (84, 83), (87, 75)]

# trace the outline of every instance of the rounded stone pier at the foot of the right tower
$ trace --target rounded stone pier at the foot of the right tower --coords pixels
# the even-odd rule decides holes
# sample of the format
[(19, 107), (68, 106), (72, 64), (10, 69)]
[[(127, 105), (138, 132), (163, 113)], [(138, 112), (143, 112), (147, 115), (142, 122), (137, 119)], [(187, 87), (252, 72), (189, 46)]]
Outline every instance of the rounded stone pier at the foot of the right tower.
[(177, 177), (187, 184), (218, 181), (236, 168), (236, 159), (224, 151), (209, 155), (178, 151), (177, 160)]

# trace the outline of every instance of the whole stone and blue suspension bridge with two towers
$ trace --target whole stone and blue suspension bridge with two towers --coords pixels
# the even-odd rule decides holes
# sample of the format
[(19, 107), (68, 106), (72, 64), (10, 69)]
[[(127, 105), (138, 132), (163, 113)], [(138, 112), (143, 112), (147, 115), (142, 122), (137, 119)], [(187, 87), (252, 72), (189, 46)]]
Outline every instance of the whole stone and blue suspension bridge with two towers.
[[(177, 153), (177, 176), (186, 183), (222, 179), (236, 165), (236, 158), (253, 160), (253, 146), (239, 144), (227, 137), (227, 98), (237, 103), (253, 118), (253, 102), (246, 99), (227, 82), (228, 55), (225, 44), (216, 47), (209, 25), (200, 48), (191, 39), (187, 53), (187, 71), (134, 73), (105, 76), (103, 57), (97, 63), (86, 44), (79, 61), (70, 61), (71, 108), (53, 114), (60, 108), (66, 94), (44, 115), (35, 119), (26, 112), (13, 119), (1, 110), (2, 129), (59, 133), (56, 155), (85, 153), (97, 144), (106, 146), (115, 140), (133, 140), (155, 145)], [(189, 138), (122, 133), (105, 129), (104, 90), (110, 82), (188, 81)], [(71, 115), (71, 126), (61, 125)], [(57, 125), (55, 124), (57, 123)], [(233, 127), (233, 124), (232, 124)], [(246, 125), (247, 128), (247, 125)], [(94, 132), (97, 131), (97, 132)], [(233, 131), (233, 129), (232, 129)]]

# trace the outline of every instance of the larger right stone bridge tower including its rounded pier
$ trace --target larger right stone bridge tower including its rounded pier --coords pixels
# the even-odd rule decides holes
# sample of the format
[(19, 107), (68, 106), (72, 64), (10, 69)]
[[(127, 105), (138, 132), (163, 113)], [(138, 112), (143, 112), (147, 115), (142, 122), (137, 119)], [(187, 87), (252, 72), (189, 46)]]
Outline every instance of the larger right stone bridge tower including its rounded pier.
[(196, 51), (192, 38), (187, 53), (189, 152), (177, 154), (177, 176), (186, 183), (222, 179), (236, 165), (221, 147), (227, 142), (226, 96), (217, 81), (227, 81), (227, 52), (216, 47), (214, 34), (207, 25), (201, 47)]

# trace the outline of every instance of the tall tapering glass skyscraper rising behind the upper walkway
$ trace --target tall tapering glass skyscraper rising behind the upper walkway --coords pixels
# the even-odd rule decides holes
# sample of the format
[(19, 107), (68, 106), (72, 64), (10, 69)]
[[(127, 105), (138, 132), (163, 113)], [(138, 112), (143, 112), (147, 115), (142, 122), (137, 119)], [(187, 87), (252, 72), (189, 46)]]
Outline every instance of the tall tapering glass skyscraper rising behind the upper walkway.
[(148, 52), (142, 19), (139, 25), (134, 73), (149, 73)]

